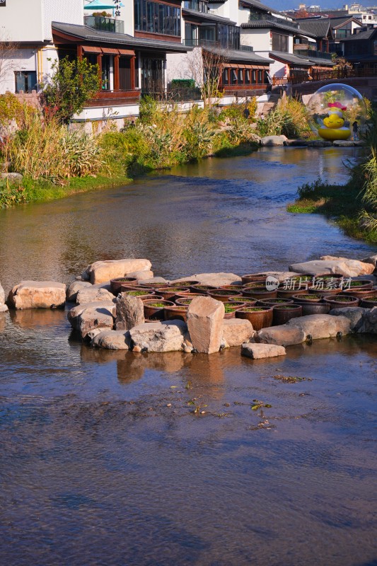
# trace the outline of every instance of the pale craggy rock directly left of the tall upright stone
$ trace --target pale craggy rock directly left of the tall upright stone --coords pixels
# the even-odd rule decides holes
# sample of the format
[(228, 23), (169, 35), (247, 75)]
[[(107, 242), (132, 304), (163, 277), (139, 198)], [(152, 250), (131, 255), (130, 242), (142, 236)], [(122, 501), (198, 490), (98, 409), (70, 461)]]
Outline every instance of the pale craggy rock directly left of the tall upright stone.
[(187, 325), (182, 320), (144, 323), (129, 330), (132, 347), (139, 352), (175, 352), (183, 350)]

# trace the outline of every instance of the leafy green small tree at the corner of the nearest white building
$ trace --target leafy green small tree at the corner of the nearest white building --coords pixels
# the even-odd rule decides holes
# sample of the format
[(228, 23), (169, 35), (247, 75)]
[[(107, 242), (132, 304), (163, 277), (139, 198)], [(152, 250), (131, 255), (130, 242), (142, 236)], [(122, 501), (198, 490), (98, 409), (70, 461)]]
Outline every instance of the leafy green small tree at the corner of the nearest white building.
[(67, 123), (76, 112), (81, 112), (86, 100), (100, 88), (98, 65), (87, 59), (70, 61), (64, 57), (52, 64), (52, 76), (42, 92), (42, 105), (47, 117), (56, 117)]

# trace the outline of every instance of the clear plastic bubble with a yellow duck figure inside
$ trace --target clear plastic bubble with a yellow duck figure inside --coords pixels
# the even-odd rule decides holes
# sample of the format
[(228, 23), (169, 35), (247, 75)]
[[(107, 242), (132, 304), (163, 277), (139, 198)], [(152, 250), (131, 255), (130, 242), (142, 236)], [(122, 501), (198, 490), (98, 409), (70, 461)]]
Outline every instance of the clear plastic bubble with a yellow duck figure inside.
[(328, 140), (359, 139), (366, 120), (361, 94), (347, 84), (327, 84), (316, 91), (307, 105), (312, 132)]

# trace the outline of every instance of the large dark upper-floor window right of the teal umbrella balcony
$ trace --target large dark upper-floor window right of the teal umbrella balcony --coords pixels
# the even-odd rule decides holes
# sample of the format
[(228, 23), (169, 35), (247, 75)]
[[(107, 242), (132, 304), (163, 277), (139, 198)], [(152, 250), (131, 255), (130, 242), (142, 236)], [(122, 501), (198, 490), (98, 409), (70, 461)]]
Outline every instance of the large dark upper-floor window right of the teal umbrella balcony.
[(134, 28), (160, 35), (180, 36), (180, 8), (149, 0), (134, 0)]

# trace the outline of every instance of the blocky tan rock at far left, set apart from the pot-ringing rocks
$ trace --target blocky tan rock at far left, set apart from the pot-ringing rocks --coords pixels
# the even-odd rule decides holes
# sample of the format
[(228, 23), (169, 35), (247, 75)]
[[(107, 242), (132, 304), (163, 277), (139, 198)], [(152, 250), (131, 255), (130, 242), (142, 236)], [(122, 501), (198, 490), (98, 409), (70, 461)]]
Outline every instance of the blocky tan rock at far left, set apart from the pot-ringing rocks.
[(62, 307), (66, 301), (66, 286), (56, 281), (21, 281), (8, 295), (11, 308)]

